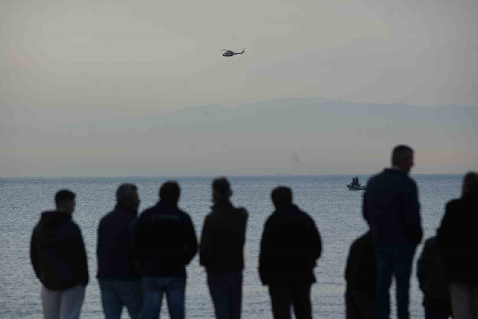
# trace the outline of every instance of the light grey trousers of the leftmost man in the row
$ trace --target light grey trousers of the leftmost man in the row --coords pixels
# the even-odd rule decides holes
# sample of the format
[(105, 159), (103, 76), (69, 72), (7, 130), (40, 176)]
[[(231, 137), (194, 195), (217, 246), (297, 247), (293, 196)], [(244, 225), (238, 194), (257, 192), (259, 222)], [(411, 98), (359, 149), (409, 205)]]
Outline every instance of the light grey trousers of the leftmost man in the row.
[(78, 319), (85, 299), (85, 287), (77, 285), (53, 291), (42, 285), (43, 316), (45, 319)]

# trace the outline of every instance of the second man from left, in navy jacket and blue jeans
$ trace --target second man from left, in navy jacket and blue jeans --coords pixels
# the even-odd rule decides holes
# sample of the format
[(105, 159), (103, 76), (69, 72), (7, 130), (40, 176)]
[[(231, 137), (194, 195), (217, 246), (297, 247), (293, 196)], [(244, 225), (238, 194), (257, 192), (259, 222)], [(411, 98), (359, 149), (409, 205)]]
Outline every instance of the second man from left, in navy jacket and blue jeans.
[(98, 227), (98, 282), (106, 319), (120, 319), (126, 306), (131, 319), (141, 312), (141, 277), (134, 264), (132, 230), (140, 199), (133, 184), (116, 191), (115, 209), (101, 218)]

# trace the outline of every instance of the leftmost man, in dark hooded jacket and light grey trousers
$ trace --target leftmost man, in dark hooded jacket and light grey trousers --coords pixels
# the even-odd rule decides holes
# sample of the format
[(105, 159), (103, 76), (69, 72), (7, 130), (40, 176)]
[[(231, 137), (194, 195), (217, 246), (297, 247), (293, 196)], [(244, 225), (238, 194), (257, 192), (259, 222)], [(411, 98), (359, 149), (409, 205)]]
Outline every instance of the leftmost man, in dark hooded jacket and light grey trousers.
[(44, 318), (76, 319), (80, 316), (89, 278), (81, 231), (71, 219), (75, 194), (59, 191), (55, 205), (56, 210), (42, 213), (33, 229), (30, 257), (42, 283)]

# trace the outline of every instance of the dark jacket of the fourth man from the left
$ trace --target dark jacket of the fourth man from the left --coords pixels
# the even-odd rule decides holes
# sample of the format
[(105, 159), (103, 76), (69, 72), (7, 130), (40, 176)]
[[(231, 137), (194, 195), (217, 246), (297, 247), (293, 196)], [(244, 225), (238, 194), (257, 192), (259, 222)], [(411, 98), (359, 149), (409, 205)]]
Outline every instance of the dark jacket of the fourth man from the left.
[(244, 241), (248, 214), (229, 201), (217, 203), (204, 220), (199, 262), (207, 273), (235, 273), (244, 269)]

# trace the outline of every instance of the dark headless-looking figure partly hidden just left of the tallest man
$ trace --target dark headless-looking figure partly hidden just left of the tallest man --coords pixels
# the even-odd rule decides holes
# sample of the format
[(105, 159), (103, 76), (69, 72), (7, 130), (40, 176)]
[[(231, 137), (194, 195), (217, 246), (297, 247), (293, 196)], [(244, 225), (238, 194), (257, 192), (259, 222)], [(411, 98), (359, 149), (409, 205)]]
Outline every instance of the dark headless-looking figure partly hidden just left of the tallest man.
[(377, 315), (377, 260), (372, 233), (356, 239), (348, 252), (345, 268), (347, 319), (373, 319)]

